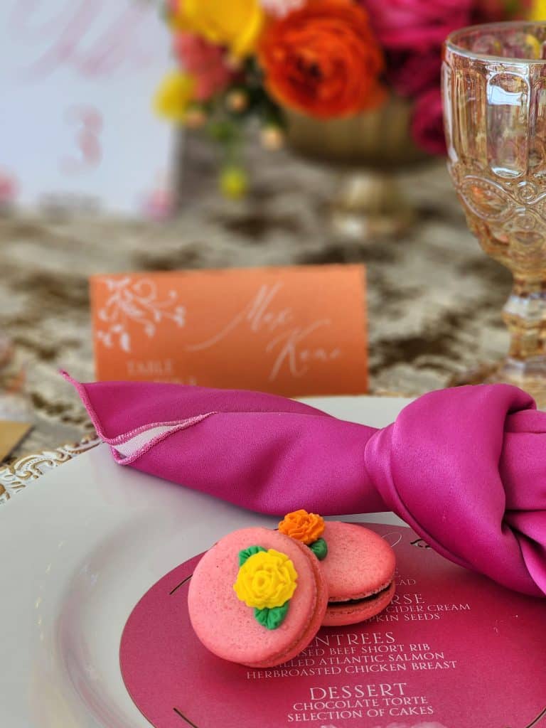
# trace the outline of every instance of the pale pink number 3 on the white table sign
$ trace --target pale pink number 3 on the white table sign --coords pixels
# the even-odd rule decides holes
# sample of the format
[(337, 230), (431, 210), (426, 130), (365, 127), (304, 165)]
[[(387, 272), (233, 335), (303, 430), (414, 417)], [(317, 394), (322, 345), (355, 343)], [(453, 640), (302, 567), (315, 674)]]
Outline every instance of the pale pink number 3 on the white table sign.
[(103, 116), (92, 106), (71, 106), (66, 111), (66, 123), (74, 130), (74, 147), (71, 157), (60, 162), (63, 172), (74, 174), (98, 167), (103, 157), (100, 133), (103, 130)]

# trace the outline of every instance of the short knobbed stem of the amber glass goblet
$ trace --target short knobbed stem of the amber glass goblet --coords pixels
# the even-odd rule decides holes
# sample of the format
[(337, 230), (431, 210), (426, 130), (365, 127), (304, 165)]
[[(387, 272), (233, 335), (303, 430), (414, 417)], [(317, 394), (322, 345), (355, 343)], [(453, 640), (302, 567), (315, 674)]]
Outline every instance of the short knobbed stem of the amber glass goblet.
[(546, 377), (546, 280), (515, 275), (502, 317), (510, 331), (507, 378)]

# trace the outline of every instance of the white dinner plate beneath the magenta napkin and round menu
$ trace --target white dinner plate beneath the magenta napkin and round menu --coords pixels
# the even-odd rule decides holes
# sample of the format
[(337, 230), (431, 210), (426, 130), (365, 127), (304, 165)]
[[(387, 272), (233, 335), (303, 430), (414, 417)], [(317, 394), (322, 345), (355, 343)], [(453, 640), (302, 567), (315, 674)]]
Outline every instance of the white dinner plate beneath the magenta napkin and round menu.
[[(410, 400), (306, 402), (382, 427)], [(394, 515), (354, 520), (401, 523)], [(119, 467), (99, 446), (0, 508), (0, 725), (149, 728), (119, 671), (119, 638), (154, 582), (223, 534), (274, 523)]]

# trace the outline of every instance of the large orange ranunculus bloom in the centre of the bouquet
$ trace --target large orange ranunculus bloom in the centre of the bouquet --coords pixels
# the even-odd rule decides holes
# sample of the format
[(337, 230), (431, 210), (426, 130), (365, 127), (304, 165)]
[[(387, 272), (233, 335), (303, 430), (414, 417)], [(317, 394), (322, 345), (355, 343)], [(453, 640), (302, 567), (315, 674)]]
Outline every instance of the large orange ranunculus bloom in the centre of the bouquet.
[(349, 116), (385, 98), (383, 52), (352, 0), (310, 0), (272, 20), (258, 53), (271, 95), (310, 116)]

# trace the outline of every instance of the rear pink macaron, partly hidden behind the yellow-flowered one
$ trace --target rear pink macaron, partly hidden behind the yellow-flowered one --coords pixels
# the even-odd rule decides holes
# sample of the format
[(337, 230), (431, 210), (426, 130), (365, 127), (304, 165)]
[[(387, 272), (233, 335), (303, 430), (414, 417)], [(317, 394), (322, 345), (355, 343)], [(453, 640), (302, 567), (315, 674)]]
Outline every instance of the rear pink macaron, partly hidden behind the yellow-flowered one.
[(320, 562), (328, 582), (323, 625), (352, 625), (375, 617), (395, 596), (392, 547), (357, 523), (327, 521), (328, 554)]

